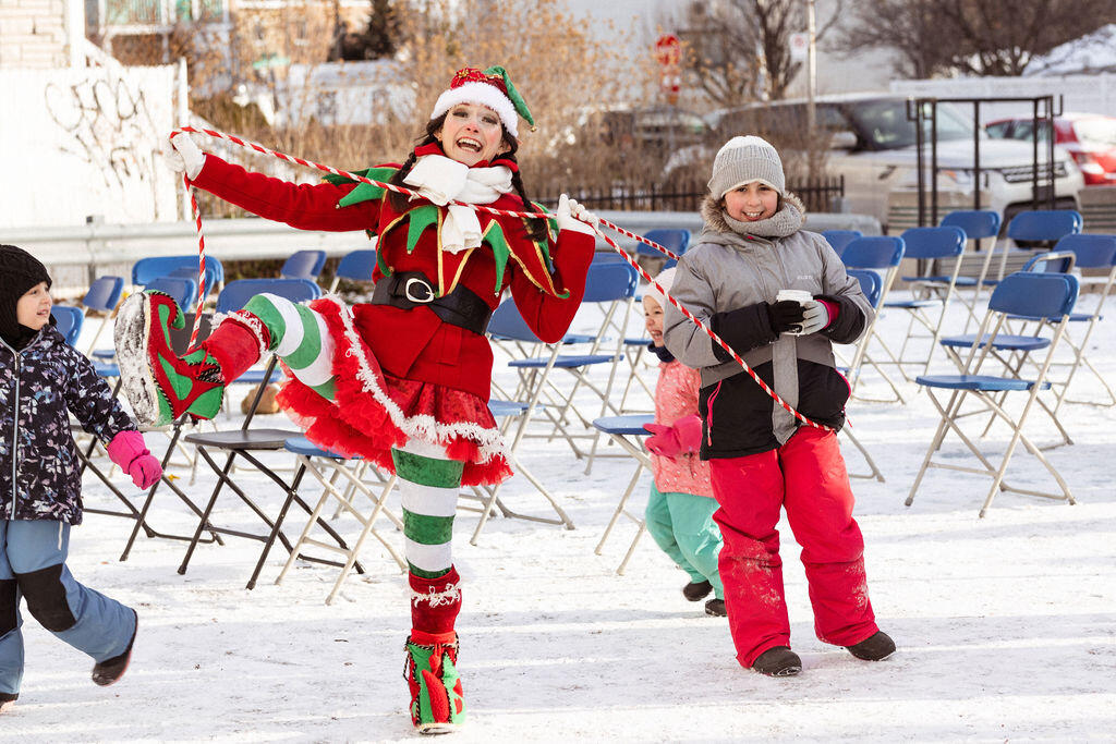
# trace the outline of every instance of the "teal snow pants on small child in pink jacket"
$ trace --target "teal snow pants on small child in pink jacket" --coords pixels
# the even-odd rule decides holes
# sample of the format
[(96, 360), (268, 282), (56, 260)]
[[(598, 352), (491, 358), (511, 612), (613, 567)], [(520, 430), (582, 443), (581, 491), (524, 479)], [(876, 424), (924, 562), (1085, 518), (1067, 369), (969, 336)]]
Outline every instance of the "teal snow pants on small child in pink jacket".
[(663, 552), (695, 583), (709, 581), (713, 593), (724, 599), (716, 568), (721, 553), (721, 530), (713, 521), (716, 501), (692, 493), (661, 493), (651, 484), (647, 499), (647, 532)]

